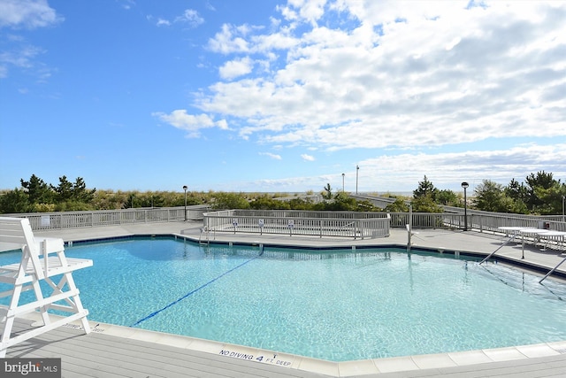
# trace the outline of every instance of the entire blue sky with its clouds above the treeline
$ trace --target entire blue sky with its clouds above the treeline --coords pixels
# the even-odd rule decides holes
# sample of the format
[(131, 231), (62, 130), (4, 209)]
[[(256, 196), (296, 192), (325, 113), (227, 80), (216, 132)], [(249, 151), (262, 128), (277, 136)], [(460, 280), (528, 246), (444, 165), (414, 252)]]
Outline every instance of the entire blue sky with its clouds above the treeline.
[[(566, 2), (0, 0), (0, 189), (566, 181)], [(344, 174), (344, 176), (342, 176)]]

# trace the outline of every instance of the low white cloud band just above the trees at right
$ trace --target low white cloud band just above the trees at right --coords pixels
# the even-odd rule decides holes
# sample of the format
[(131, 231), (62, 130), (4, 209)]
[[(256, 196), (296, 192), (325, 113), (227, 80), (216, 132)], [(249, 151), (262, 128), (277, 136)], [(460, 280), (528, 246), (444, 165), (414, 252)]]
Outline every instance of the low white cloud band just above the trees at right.
[[(360, 161), (358, 184), (360, 191), (410, 192), (417, 189), (424, 175), (439, 189), (461, 191), (461, 182), (470, 183), (470, 193), (483, 180), (492, 180), (502, 185), (511, 179), (524, 182), (528, 174), (545, 171), (556, 179), (566, 177), (566, 143), (556, 145), (527, 144), (508, 150), (462, 151), (454, 153), (404, 153), (384, 155)], [(346, 191), (356, 189), (356, 165), (341, 168), (334, 174), (318, 176), (287, 177), (241, 183), (242, 188), (263, 188), (279, 191), (299, 189), (322, 189), (326, 183), (332, 188), (342, 185), (345, 173)]]

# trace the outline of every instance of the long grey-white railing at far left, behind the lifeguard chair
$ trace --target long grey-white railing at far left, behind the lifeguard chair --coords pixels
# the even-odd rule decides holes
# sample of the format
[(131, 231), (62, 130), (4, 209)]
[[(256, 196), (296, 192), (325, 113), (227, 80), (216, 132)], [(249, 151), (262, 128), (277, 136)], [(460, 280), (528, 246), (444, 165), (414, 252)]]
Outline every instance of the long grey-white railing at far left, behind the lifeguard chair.
[[(187, 220), (202, 220), (203, 212), (209, 210), (208, 205), (187, 206)], [(96, 212), (28, 212), (6, 216), (27, 218), (34, 230), (91, 228), (185, 220), (185, 207), (134, 208)]]

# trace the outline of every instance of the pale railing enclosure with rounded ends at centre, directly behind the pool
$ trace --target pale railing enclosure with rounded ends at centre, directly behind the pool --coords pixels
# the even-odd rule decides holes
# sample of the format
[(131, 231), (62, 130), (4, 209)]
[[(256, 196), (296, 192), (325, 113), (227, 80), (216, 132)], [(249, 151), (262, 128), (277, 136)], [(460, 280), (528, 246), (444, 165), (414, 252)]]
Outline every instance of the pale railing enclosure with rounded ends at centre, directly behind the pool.
[[(357, 216), (357, 218), (356, 218)], [(389, 236), (383, 212), (308, 212), (231, 210), (203, 214), (207, 232), (244, 232), (374, 238)]]

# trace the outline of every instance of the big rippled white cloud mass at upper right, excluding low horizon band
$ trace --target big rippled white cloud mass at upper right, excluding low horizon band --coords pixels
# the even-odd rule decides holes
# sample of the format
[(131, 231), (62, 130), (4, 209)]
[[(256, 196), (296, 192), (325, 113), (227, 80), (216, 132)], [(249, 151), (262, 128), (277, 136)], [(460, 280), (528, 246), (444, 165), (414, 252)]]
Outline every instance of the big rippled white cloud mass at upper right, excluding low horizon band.
[(289, 2), (275, 32), (223, 26), (210, 50), (270, 54), (272, 71), (239, 78), (232, 57), (195, 106), (242, 138), (327, 150), (566, 135), (565, 3), (325, 3)]

